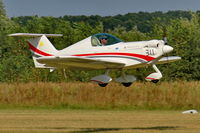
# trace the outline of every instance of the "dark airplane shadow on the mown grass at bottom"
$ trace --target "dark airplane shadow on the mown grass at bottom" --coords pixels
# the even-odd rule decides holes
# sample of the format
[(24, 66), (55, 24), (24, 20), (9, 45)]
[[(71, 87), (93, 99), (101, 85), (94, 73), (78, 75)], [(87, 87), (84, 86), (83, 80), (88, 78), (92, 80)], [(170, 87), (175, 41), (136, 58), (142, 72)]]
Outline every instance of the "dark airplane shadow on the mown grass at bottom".
[(155, 127), (135, 127), (135, 128), (79, 128), (80, 131), (71, 131), (69, 133), (92, 133), (92, 132), (109, 132), (123, 130), (175, 130), (178, 126), (155, 126)]

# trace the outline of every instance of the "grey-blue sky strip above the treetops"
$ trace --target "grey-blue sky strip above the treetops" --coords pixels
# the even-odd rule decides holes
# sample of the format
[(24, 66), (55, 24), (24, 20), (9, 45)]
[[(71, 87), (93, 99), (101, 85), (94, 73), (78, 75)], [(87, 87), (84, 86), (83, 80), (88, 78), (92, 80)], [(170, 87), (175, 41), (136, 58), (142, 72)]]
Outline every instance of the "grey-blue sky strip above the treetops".
[(3, 0), (8, 17), (100, 15), (200, 10), (200, 0)]

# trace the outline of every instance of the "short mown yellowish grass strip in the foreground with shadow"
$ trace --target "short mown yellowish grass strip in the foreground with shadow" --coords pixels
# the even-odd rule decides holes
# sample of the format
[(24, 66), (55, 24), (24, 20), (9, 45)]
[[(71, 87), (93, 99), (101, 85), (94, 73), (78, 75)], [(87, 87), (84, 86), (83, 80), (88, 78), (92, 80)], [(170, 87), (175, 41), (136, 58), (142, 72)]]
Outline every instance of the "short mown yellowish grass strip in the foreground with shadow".
[(181, 111), (0, 110), (0, 133), (199, 133)]

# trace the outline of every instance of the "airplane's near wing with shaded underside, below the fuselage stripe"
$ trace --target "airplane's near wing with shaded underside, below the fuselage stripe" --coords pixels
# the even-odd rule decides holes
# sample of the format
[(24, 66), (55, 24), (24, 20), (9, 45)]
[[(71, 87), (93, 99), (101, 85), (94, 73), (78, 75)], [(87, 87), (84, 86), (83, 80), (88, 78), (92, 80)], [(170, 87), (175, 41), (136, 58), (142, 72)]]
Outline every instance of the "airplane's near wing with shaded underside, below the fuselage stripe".
[(44, 64), (46, 67), (54, 68), (79, 68), (79, 69), (107, 69), (107, 68), (122, 68), (124, 63), (114, 60), (93, 59), (77, 56), (46, 56), (39, 57), (36, 60)]

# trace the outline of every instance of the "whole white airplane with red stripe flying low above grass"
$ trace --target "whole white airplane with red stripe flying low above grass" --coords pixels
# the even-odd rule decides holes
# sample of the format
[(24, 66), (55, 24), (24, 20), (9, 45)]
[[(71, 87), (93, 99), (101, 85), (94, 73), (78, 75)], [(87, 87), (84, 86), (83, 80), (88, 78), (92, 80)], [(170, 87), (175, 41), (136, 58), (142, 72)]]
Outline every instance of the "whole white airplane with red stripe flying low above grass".
[(62, 36), (61, 34), (15, 33), (9, 36), (31, 37), (28, 40), (30, 51), (36, 68), (105, 69), (105, 74), (95, 76), (91, 81), (105, 87), (112, 78), (109, 70), (118, 69), (121, 76), (115, 81), (130, 86), (136, 77), (126, 75), (124, 70), (152, 65), (156, 72), (146, 77), (147, 81), (157, 83), (162, 74), (156, 64), (180, 60), (181, 57), (163, 57), (173, 48), (163, 40), (123, 42), (107, 33), (99, 33), (79, 41), (63, 50), (57, 50), (47, 37)]

